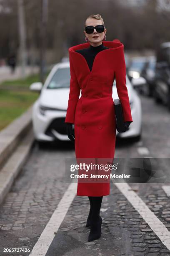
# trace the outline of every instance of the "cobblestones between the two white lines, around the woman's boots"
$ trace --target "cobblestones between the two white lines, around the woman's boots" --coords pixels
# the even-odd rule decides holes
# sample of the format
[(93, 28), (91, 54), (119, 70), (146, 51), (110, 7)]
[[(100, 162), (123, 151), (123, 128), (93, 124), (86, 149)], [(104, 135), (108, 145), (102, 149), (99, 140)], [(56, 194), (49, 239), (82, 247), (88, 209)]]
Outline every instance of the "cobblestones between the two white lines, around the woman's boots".
[[(145, 185), (149, 190), (150, 185)], [(100, 214), (103, 218), (101, 238), (90, 243), (87, 242), (90, 232), (89, 228), (85, 228), (88, 200), (86, 197), (82, 197), (80, 201), (80, 198), (75, 197), (46, 256), (74, 254), (90, 256), (170, 255), (170, 251), (126, 198), (121, 195), (119, 189), (111, 183), (110, 190), (110, 195), (103, 197), (102, 201)], [(141, 190), (143, 191), (143, 189)], [(158, 191), (161, 191), (161, 189), (158, 189)], [(60, 254), (60, 251), (62, 251), (62, 254)]]

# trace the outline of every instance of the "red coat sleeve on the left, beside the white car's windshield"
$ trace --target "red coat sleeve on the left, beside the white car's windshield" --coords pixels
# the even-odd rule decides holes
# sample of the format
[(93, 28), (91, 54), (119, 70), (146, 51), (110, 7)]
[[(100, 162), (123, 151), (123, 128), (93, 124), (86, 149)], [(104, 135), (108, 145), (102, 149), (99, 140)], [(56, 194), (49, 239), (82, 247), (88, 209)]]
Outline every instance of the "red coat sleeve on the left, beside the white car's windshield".
[(80, 86), (77, 81), (77, 77), (76, 77), (75, 70), (74, 70), (74, 67), (72, 64), (71, 56), (69, 58), (69, 61), (70, 61), (70, 92), (69, 92), (69, 99), (68, 99), (65, 123), (74, 123), (75, 108), (76, 108), (77, 101), (80, 96)]

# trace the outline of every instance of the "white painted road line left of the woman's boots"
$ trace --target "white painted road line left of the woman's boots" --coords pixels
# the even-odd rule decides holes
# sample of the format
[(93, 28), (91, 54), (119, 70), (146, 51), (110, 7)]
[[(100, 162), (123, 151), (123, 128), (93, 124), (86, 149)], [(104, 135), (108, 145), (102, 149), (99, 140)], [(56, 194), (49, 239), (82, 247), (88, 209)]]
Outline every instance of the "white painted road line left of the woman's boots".
[(45, 256), (52, 240), (55, 237), (55, 233), (60, 228), (62, 221), (67, 214), (67, 211), (74, 200), (77, 193), (77, 183), (71, 183), (67, 188), (65, 194), (57, 205), (56, 210), (53, 212), (49, 222), (39, 237), (37, 243), (33, 247), (31, 256)]

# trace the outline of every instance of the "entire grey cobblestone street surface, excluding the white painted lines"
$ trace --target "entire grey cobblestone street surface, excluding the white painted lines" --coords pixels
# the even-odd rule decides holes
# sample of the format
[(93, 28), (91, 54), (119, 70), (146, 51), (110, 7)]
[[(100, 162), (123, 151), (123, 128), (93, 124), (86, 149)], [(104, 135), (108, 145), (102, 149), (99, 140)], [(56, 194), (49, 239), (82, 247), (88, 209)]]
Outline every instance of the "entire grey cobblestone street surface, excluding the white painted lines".
[[(141, 99), (143, 138), (138, 143), (117, 140), (115, 157), (168, 158), (170, 129), (167, 120), (170, 115), (165, 107), (155, 105), (153, 99), (143, 96)], [(153, 115), (153, 112), (156, 112), (157, 116)], [(153, 116), (152, 120), (150, 115)], [(153, 134), (153, 123), (156, 120), (159, 120), (159, 127), (154, 128)], [(149, 155), (139, 154), (138, 148), (141, 146), (148, 148)], [(54, 147), (47, 145), (42, 149), (35, 145), (0, 207), (0, 256), (29, 255), (4, 253), (3, 248), (32, 250), (69, 185), (65, 183), (65, 158), (74, 156), (75, 151), (71, 143), (59, 143)], [(168, 168), (166, 171), (168, 172)], [(129, 185), (170, 231), (170, 198), (163, 191), (163, 184)], [(90, 243), (87, 242), (90, 229), (85, 228), (88, 211), (88, 198), (75, 197), (46, 256), (170, 255), (170, 251), (148, 223), (112, 182), (110, 195), (103, 197), (102, 201), (102, 236)]]

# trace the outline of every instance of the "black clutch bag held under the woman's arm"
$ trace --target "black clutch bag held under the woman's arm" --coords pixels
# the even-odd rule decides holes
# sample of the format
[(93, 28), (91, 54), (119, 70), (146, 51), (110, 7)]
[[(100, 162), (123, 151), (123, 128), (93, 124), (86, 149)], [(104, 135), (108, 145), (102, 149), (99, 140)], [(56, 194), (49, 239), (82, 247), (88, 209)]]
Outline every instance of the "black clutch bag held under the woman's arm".
[(115, 117), (116, 117), (116, 129), (119, 133), (124, 133), (126, 131), (124, 118), (123, 118), (123, 111), (122, 111), (122, 104), (120, 99), (115, 99)]

